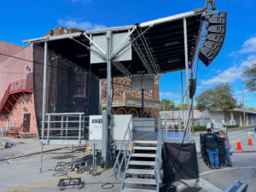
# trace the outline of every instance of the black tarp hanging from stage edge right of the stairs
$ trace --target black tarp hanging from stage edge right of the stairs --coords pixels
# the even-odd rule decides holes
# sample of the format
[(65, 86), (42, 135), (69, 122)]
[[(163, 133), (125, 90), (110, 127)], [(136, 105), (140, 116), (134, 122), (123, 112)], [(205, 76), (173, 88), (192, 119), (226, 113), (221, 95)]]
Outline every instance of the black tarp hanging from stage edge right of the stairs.
[(163, 148), (164, 183), (171, 183), (179, 179), (196, 179), (198, 164), (195, 143), (165, 143)]

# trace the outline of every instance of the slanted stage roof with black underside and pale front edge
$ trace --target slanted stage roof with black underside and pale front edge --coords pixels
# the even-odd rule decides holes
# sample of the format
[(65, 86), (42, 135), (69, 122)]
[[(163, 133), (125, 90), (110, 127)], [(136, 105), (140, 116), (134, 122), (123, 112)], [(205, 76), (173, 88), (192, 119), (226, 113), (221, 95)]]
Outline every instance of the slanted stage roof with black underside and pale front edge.
[[(99, 79), (104, 79), (107, 77), (106, 62), (90, 64), (90, 49), (86, 49), (84, 45), (90, 47), (90, 39), (88, 37), (106, 33), (109, 30), (112, 33), (128, 31), (132, 32), (130, 38), (130, 41), (132, 41), (131, 61), (114, 62), (113, 77), (127, 76), (127, 73), (130, 75), (168, 73), (185, 68), (184, 18), (187, 23), (189, 62), (193, 63), (195, 49), (201, 36), (201, 16), (204, 11), (205, 9), (195, 9), (180, 15), (131, 26), (34, 38), (24, 42), (42, 44), (44, 46), (44, 41), (47, 41), (49, 50), (62, 55), (69, 61), (73, 61), (73, 63), (83, 67), (86, 71), (90, 70)], [(119, 67), (116, 67), (117, 64)], [(120, 70), (120, 66), (123, 70)]]

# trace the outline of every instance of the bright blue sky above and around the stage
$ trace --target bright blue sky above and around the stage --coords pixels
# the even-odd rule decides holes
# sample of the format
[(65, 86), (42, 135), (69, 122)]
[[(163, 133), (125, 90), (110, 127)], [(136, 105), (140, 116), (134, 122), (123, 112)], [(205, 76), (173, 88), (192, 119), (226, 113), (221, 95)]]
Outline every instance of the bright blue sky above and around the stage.
[[(205, 6), (197, 1), (137, 0), (2, 0), (0, 40), (22, 44), (18, 38), (38, 38), (58, 25), (92, 30), (124, 26), (176, 15)], [(232, 85), (241, 102), (241, 72), (256, 62), (256, 2), (253, 0), (216, 0), (218, 10), (228, 11), (227, 34), (223, 49), (209, 67), (199, 65), (196, 94), (218, 83)], [(183, 72), (184, 74), (184, 72)], [(184, 76), (184, 75), (183, 75)], [(245, 91), (245, 106), (256, 108), (256, 96)], [(177, 104), (181, 97), (180, 72), (160, 78), (160, 98)]]

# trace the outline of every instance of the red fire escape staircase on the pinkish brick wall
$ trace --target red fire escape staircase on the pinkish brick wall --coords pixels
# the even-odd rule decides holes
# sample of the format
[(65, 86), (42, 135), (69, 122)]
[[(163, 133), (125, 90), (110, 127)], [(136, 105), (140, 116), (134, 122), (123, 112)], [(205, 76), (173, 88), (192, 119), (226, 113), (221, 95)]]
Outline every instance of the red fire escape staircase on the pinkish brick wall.
[(32, 81), (20, 79), (10, 83), (0, 102), (0, 120), (6, 121), (8, 119), (7, 114), (13, 114), (12, 109), (15, 108), (16, 102), (19, 104), (29, 102), (27, 93), (32, 92)]

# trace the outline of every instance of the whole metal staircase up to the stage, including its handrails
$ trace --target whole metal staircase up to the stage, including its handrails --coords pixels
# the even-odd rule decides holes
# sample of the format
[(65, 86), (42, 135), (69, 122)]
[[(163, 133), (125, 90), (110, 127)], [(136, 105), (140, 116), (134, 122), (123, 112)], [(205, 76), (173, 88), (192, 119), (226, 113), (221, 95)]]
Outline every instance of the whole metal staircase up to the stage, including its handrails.
[[(158, 131), (157, 141), (144, 140), (128, 140), (126, 146), (128, 147), (129, 155), (126, 161), (125, 171), (122, 176), (122, 183), (119, 192), (159, 192), (161, 177), (161, 148), (162, 148), (162, 130)], [(142, 139), (142, 138), (141, 138)], [(130, 144), (129, 144), (130, 143)], [(125, 148), (126, 149), (126, 148)], [(113, 167), (114, 172), (119, 166), (119, 172), (116, 175), (120, 176), (123, 159), (127, 152), (124, 150), (122, 161), (119, 164), (119, 154), (116, 163)]]

